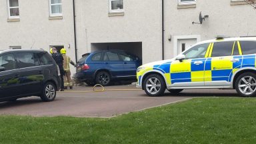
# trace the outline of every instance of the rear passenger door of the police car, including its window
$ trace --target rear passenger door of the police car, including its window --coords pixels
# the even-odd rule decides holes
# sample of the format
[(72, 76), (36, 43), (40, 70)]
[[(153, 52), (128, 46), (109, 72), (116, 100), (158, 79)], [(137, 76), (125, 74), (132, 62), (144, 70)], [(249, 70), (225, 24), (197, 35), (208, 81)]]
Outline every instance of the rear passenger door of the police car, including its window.
[(239, 55), (236, 41), (213, 43), (205, 63), (205, 85), (229, 87), (233, 72), (241, 67)]

